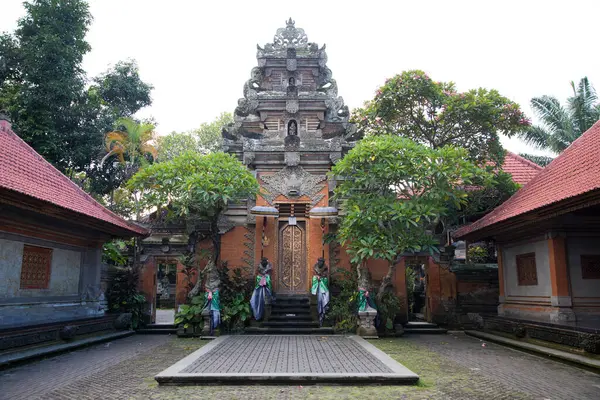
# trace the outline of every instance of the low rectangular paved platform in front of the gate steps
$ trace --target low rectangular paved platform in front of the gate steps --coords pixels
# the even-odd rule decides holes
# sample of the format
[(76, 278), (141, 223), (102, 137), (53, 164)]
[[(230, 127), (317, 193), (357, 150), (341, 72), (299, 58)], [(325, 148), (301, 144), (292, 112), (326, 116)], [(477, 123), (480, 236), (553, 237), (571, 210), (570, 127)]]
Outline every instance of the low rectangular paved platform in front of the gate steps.
[(161, 385), (388, 384), (419, 376), (358, 336), (221, 336), (155, 377)]

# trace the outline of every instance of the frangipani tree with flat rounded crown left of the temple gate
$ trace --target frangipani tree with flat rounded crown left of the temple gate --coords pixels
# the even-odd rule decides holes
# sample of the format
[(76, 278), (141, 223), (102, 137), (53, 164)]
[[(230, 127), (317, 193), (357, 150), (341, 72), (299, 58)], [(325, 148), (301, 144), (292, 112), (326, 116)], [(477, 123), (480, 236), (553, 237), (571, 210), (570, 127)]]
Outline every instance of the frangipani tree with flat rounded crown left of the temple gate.
[[(209, 223), (208, 236), (213, 242), (209, 268), (216, 266), (220, 252), (219, 215), (229, 202), (253, 198), (259, 188), (256, 178), (235, 156), (222, 152), (187, 152), (170, 161), (148, 165), (127, 185), (139, 192), (140, 205), (146, 209), (167, 210), (177, 218)], [(200, 285), (198, 280), (190, 297), (199, 292)]]

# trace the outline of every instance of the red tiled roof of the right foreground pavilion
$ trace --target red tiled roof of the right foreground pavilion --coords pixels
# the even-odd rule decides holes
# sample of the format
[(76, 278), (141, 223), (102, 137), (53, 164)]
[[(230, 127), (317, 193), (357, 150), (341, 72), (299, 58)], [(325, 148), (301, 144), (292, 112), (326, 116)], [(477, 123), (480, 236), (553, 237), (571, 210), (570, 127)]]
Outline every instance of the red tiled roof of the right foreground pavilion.
[(485, 217), (455, 232), (460, 238), (519, 215), (600, 189), (600, 121), (527, 185)]

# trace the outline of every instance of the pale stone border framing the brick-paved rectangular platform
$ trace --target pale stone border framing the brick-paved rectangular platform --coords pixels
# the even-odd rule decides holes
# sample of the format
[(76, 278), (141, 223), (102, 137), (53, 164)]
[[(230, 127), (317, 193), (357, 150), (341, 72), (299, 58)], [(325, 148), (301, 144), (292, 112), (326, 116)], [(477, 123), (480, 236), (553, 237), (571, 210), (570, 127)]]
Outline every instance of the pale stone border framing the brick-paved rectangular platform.
[[(265, 338), (266, 336), (245, 336), (245, 338)], [(270, 338), (285, 340), (286, 338), (298, 339), (301, 335), (272, 335)], [(322, 336), (323, 338), (340, 338), (340, 336)], [(419, 376), (396, 362), (390, 356), (377, 349), (372, 344), (368, 343), (359, 336), (343, 336), (350, 340), (358, 350), (366, 351), (373, 356), (376, 362), (381, 363), (382, 370), (390, 372), (332, 372), (324, 370), (322, 372), (288, 372), (286, 368), (276, 372), (222, 372), (222, 373), (206, 373), (206, 372), (182, 372), (184, 370), (194, 370), (197, 361), (201, 357), (215, 356), (215, 353), (222, 352), (223, 349), (233, 341), (231, 336), (221, 336), (211, 343), (203, 346), (189, 356), (183, 358), (171, 367), (162, 371), (155, 376), (154, 379), (160, 385), (206, 385), (206, 384), (320, 384), (320, 383), (335, 383), (345, 385), (357, 384), (387, 384), (387, 385), (412, 385), (417, 383)], [(237, 337), (239, 338), (239, 337)], [(311, 338), (315, 338), (312, 336)], [(239, 340), (239, 339), (238, 339)], [(240, 350), (241, 351), (241, 350)], [(274, 352), (275, 353), (275, 352)], [(263, 362), (271, 362), (270, 357), (276, 357), (276, 354), (269, 353)], [(346, 357), (348, 355), (345, 355)], [(350, 360), (348, 358), (348, 360)], [(225, 360), (226, 361), (226, 360)], [(361, 360), (355, 365), (360, 365)], [(196, 364), (195, 364), (196, 363)], [(357, 369), (358, 370), (358, 369)]]

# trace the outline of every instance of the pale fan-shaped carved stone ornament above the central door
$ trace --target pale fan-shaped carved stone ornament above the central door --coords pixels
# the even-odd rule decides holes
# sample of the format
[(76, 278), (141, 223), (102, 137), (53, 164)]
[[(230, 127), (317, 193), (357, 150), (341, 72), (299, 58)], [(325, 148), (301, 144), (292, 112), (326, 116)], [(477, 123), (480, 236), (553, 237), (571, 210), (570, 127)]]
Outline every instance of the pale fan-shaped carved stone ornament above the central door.
[(300, 166), (286, 166), (273, 175), (261, 176), (264, 192), (261, 196), (273, 204), (277, 196), (310, 198), (312, 204), (318, 203), (323, 197), (319, 192), (325, 187), (320, 184), (325, 181), (325, 175), (313, 175)]

